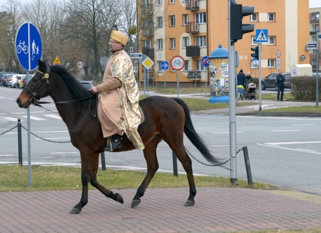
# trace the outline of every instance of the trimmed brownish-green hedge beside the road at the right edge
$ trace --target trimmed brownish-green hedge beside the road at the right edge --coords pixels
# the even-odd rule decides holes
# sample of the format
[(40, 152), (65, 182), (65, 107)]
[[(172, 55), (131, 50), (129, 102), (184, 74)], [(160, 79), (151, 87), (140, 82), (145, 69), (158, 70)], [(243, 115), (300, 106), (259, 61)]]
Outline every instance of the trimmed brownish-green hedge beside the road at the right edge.
[[(316, 100), (316, 77), (300, 76), (291, 78), (291, 93), (295, 100)], [(319, 78), (319, 99), (321, 93), (321, 79)]]

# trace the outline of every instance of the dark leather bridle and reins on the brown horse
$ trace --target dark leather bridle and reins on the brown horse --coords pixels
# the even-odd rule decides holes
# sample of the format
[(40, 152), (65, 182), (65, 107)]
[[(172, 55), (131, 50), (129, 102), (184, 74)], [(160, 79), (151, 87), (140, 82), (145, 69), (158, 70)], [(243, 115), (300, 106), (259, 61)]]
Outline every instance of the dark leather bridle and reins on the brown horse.
[[(51, 94), (51, 92), (50, 92), (50, 83), (49, 83), (49, 80), (48, 80), (48, 78), (49, 78), (49, 73), (50, 73), (50, 66), (47, 66), (46, 73), (43, 73), (43, 72), (41, 72), (40, 70), (37, 70), (36, 72), (42, 74), (43, 76), (42, 76), (40, 82), (38, 83), (37, 87), (35, 88), (35, 90), (32, 91), (32, 90), (31, 90), (30, 88), (28, 88), (27, 86), (25, 86), (25, 88), (24, 88), (24, 89), (27, 90), (28, 92), (32, 93), (32, 97), (31, 97), (31, 99), (30, 99), (28, 102), (30, 102), (30, 104), (33, 104), (33, 105), (35, 105), (35, 106), (42, 107), (40, 104), (46, 104), (46, 103), (55, 103), (55, 104), (75, 103), (75, 102), (79, 102), (79, 101), (82, 101), (82, 100), (85, 100), (85, 99), (88, 99), (88, 98), (90, 98), (90, 101), (91, 101), (91, 97), (94, 95), (94, 94), (92, 94), (92, 95), (90, 95), (90, 96), (88, 96), (88, 97), (81, 98), (81, 99), (63, 100), (63, 101), (57, 101), (57, 102), (40, 101), (40, 97), (39, 97), (39, 95), (38, 95), (38, 91), (39, 91), (39, 89), (40, 89), (40, 87), (41, 87), (41, 85), (42, 85), (43, 83), (46, 84), (46, 86), (47, 86), (47, 88), (48, 88), (48, 90), (49, 90), (49, 95)], [(42, 107), (42, 108), (44, 108), (44, 107)], [(44, 109), (46, 109), (46, 108), (44, 108)], [(50, 111), (50, 112), (53, 112), (53, 111), (51, 111), (51, 110), (49, 110), (49, 109), (46, 109), (46, 110), (48, 110), (48, 111)], [(90, 114), (91, 117), (93, 117), (93, 118), (96, 117), (96, 110), (95, 110), (95, 114), (94, 114), (94, 115), (91, 115), (91, 112), (90, 112), (90, 104), (88, 105), (88, 110), (89, 110), (89, 114)]]

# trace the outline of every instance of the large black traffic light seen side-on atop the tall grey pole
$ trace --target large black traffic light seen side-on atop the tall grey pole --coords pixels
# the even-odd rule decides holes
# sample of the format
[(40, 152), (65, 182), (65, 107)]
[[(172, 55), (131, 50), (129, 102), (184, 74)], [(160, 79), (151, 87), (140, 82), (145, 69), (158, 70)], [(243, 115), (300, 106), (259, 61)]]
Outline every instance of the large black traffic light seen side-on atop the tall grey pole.
[(233, 3), (230, 7), (230, 35), (231, 40), (237, 42), (242, 39), (243, 34), (253, 32), (254, 24), (242, 24), (242, 18), (254, 13), (254, 6), (242, 6)]

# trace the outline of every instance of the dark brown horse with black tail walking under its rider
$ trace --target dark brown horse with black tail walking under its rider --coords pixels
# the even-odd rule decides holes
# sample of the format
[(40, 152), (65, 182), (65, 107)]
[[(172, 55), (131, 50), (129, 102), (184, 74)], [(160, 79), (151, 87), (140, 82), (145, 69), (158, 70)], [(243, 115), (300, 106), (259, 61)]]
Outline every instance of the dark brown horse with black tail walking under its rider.
[[(80, 213), (88, 202), (88, 183), (96, 187), (105, 196), (123, 203), (122, 196), (114, 193), (98, 183), (96, 174), (99, 165), (99, 153), (106, 146), (99, 122), (94, 117), (96, 96), (84, 89), (80, 82), (63, 66), (50, 66), (46, 61), (38, 60), (38, 70), (20, 93), (16, 102), (19, 107), (28, 108), (30, 104), (39, 103), (40, 98), (50, 95), (57, 110), (66, 123), (72, 144), (79, 149), (81, 158), (82, 194), (80, 202), (70, 211)], [(208, 148), (196, 133), (188, 107), (179, 98), (152, 96), (140, 101), (145, 113), (145, 122), (139, 126), (138, 132), (145, 144), (144, 157), (147, 162), (147, 174), (132, 200), (131, 207), (140, 203), (140, 197), (153, 179), (159, 168), (156, 149), (161, 140), (167, 142), (182, 163), (187, 173), (190, 194), (185, 206), (195, 204), (196, 188), (192, 171), (192, 161), (187, 155), (183, 134), (201, 152), (203, 157), (213, 165), (220, 165), (218, 159), (211, 155)], [(126, 137), (123, 147), (114, 152), (135, 149)]]

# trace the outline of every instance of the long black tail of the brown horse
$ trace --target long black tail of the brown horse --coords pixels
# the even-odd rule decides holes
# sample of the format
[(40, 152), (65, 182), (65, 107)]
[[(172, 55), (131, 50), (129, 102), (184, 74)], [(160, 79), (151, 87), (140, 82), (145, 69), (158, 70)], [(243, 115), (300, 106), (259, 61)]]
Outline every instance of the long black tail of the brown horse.
[[(192, 123), (190, 110), (186, 103), (180, 98), (173, 98), (179, 105), (181, 105), (185, 112), (185, 125), (184, 125), (184, 133), (186, 134), (187, 138), (195, 145), (195, 147), (201, 152), (203, 157), (213, 165), (220, 165), (222, 164), (218, 158), (215, 158), (209, 149), (207, 148), (204, 140), (201, 139), (200, 135), (195, 131), (195, 128)], [(224, 166), (222, 166), (224, 167)], [(224, 167), (226, 168), (226, 167)]]

